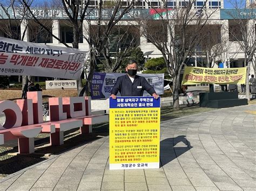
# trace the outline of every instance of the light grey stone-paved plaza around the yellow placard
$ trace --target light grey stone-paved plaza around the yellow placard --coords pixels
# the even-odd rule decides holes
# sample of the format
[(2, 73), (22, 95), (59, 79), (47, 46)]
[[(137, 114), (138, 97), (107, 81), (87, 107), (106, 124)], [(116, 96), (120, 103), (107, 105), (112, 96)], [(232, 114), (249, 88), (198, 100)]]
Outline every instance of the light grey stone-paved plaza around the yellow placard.
[(102, 137), (0, 180), (0, 190), (256, 190), (256, 105), (161, 123), (159, 169), (109, 170)]

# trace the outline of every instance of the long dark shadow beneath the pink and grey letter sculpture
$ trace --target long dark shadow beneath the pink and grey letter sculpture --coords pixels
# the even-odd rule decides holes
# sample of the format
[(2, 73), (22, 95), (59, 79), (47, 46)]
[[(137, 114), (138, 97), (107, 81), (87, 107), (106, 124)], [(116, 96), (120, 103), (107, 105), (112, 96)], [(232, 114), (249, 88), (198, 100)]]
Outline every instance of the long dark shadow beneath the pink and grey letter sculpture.
[(9, 147), (8, 151), (3, 151), (0, 155), (0, 179), (8, 174), (12, 174), (22, 169), (35, 165), (38, 162), (48, 159), (48, 155), (62, 154), (66, 151), (70, 151), (76, 147), (85, 145), (87, 143), (93, 142), (97, 139), (102, 138), (101, 133), (92, 132), (86, 135), (80, 135), (79, 131), (69, 131), (65, 132), (66, 135), (63, 145), (50, 146), (50, 138), (45, 137), (35, 141), (35, 153), (32, 154), (17, 154), (10, 155), (8, 153), (18, 152), (18, 147)]

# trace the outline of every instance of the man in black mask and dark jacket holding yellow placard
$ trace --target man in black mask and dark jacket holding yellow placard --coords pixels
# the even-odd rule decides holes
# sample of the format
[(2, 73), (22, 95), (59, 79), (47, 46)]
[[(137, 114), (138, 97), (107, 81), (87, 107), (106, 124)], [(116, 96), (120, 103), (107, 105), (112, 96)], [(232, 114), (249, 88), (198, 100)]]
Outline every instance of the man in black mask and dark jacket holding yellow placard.
[(150, 84), (146, 81), (145, 77), (138, 76), (137, 74), (138, 63), (135, 60), (130, 60), (126, 65), (127, 75), (117, 78), (116, 84), (111, 90), (111, 97), (116, 99), (118, 91), (121, 96), (143, 96), (143, 91), (152, 95), (154, 98), (159, 96)]

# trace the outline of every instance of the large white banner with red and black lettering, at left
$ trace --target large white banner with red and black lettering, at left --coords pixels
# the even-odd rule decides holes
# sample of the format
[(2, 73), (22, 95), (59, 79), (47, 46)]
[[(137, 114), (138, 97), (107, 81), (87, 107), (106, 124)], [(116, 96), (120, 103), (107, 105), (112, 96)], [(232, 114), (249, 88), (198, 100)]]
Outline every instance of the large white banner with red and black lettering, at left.
[(0, 37), (0, 75), (78, 79), (88, 51)]

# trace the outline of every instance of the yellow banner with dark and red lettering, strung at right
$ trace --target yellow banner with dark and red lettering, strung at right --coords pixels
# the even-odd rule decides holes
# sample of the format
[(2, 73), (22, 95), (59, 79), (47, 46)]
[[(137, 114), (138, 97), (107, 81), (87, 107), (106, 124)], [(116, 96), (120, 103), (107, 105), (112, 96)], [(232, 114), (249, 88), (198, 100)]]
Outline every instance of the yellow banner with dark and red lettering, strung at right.
[(202, 68), (186, 67), (182, 85), (194, 85), (200, 83), (212, 84), (243, 84), (246, 79), (246, 67), (244, 68)]

